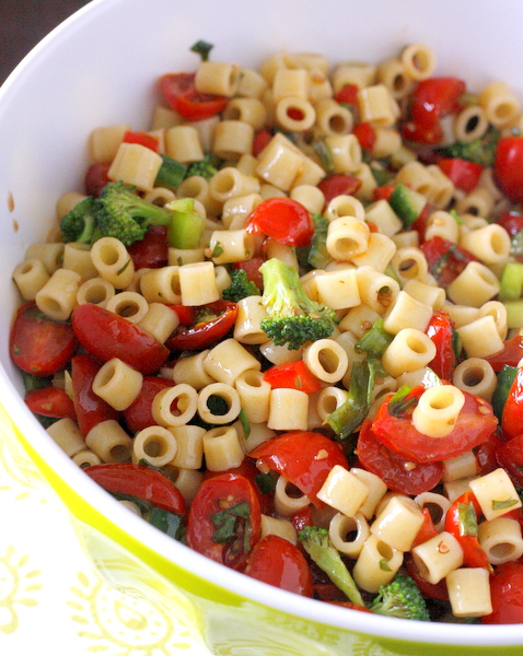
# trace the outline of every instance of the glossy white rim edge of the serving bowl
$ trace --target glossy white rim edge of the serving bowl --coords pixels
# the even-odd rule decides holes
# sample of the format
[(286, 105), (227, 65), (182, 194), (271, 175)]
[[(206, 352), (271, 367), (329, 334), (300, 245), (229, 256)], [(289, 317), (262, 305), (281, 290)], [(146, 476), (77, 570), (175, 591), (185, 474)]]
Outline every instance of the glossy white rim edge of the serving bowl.
[[(71, 28), (82, 28), (96, 20), (100, 12), (107, 5), (121, 4), (126, 0), (91, 0), (88, 4), (77, 10), (62, 23), (46, 35), (13, 69), (0, 86), (0, 120), (4, 106), (11, 102), (11, 95), (18, 87), (23, 86), (33, 69), (38, 66), (40, 55), (60, 46), (67, 40)], [(26, 408), (21, 395), (15, 388), (7, 370), (0, 364), (0, 399), (8, 410), (12, 422), (23, 435), (35, 434), (34, 445), (38, 453), (49, 458), (56, 473), (72, 489), (82, 494), (86, 503), (107, 519), (119, 526), (125, 532), (140, 542), (158, 551), (166, 560), (175, 562), (197, 577), (205, 578), (211, 584), (225, 588), (231, 593), (272, 608), (290, 616), (321, 623), (325, 626), (335, 626), (349, 632), (358, 632), (371, 637), (380, 637), (406, 643), (426, 643), (430, 645), (460, 645), (460, 646), (518, 646), (523, 644), (519, 624), (502, 625), (464, 625), (440, 622), (405, 621), (395, 618), (376, 617), (371, 613), (358, 612), (339, 608), (323, 601), (309, 599), (279, 590), (268, 584), (249, 578), (248, 591), (245, 589), (246, 577), (244, 574), (232, 571), (220, 563), (197, 553), (190, 548), (168, 538), (154, 527), (143, 523), (133, 513), (129, 513), (121, 504), (104, 492), (94, 481), (86, 476), (79, 476), (79, 468), (61, 452), (61, 449), (45, 434), (38, 421)], [(14, 419), (16, 418), (16, 419)], [(69, 511), (74, 514), (73, 509)], [(142, 538), (137, 538), (142, 535)], [(176, 585), (173, 582), (173, 585)], [(444, 626), (444, 631), (442, 631)]]

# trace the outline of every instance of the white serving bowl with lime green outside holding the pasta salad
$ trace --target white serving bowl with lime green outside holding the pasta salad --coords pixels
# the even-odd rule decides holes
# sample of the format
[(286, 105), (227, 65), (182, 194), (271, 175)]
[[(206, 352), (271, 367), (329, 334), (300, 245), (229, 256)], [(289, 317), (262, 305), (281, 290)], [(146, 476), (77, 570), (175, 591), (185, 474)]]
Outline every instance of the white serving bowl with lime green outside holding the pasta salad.
[(108, 499), (27, 411), (8, 353), (18, 295), (11, 271), (42, 239), (57, 198), (82, 189), (97, 125), (144, 129), (155, 81), (194, 70), (189, 47), (257, 66), (276, 50), (376, 61), (409, 43), (438, 55), (438, 73), (480, 87), (503, 80), (521, 96), (523, 5), (505, 0), (94, 0), (46, 37), (0, 91), (0, 411), (2, 436), (35, 484), (67, 505), (93, 563), (115, 585), (188, 620), (216, 654), (521, 654), (518, 625), (418, 623), (348, 611), (276, 590), (218, 565)]

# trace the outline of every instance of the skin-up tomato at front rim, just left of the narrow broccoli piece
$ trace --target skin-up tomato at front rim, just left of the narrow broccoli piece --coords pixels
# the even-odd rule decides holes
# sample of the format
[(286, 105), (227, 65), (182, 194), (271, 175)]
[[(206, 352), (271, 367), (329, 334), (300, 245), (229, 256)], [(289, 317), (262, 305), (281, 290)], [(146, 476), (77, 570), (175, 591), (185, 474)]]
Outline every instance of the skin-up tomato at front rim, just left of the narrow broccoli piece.
[(255, 544), (244, 574), (289, 593), (313, 596), (311, 570), (305, 557), (280, 536), (265, 536)]

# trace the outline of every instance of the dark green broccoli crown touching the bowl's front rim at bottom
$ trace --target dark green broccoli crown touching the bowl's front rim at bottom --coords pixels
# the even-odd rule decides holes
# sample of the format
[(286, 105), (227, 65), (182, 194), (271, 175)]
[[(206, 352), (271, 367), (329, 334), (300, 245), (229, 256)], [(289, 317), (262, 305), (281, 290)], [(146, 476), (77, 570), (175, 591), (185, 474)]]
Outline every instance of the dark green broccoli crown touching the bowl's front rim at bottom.
[(391, 583), (380, 587), (370, 610), (392, 618), (430, 621), (427, 604), (418, 586), (410, 576), (400, 573)]

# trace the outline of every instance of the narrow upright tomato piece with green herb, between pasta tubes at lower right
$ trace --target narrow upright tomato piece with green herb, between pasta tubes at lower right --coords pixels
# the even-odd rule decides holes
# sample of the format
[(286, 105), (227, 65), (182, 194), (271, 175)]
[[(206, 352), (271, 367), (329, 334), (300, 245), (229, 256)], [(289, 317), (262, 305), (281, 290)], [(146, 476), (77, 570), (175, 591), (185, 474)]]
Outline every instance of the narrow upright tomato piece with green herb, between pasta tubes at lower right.
[(445, 530), (460, 542), (465, 567), (490, 570), (487, 552), (479, 544), (477, 537), (477, 517), (480, 513), (481, 508), (474, 492), (468, 490), (452, 502), (446, 511)]

